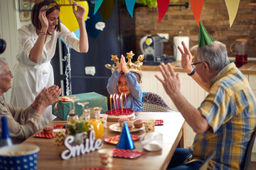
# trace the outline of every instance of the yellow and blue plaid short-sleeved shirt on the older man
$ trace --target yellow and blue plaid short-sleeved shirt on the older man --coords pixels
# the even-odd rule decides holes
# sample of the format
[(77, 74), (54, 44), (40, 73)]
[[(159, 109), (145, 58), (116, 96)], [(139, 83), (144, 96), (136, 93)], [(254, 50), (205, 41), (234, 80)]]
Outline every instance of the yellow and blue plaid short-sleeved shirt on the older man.
[[(210, 91), (198, 110), (210, 129), (196, 134), (193, 161), (215, 150), (208, 169), (239, 169), (256, 125), (256, 98), (244, 75), (228, 64), (210, 82)], [(191, 161), (192, 161), (191, 160)]]

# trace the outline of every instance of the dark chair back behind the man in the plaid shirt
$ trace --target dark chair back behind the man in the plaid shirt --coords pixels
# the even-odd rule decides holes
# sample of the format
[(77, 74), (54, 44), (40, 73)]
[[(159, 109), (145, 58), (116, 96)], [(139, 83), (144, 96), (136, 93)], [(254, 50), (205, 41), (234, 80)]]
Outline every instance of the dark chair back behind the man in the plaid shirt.
[(241, 169), (243, 169), (243, 170), (251, 169), (252, 147), (255, 142), (255, 137), (256, 137), (256, 130), (252, 134), (252, 138), (250, 139), (249, 144), (246, 149), (246, 152), (245, 152), (245, 159), (243, 160), (243, 162), (241, 164)]

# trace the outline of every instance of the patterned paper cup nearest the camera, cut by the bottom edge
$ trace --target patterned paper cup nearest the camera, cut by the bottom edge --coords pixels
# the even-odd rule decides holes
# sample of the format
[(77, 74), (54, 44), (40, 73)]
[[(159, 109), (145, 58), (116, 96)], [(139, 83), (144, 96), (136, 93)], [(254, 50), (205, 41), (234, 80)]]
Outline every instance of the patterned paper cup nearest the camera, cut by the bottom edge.
[(112, 169), (112, 149), (100, 149), (97, 151), (100, 156), (100, 162), (105, 169)]

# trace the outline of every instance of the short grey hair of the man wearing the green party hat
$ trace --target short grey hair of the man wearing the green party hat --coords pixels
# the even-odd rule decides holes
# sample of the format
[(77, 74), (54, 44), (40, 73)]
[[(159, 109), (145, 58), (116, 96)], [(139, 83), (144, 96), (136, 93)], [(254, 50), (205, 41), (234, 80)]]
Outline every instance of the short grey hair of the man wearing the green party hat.
[(198, 47), (196, 57), (198, 57), (198, 62), (207, 62), (211, 71), (219, 71), (230, 63), (226, 46), (219, 41)]

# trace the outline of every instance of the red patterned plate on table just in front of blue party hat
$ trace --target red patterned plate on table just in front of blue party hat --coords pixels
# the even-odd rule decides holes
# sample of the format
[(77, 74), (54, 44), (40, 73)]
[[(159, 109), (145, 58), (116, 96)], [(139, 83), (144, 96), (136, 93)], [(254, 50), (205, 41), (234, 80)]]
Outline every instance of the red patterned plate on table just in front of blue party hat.
[(127, 149), (113, 149), (113, 157), (135, 159), (142, 156), (144, 152), (127, 150)]

